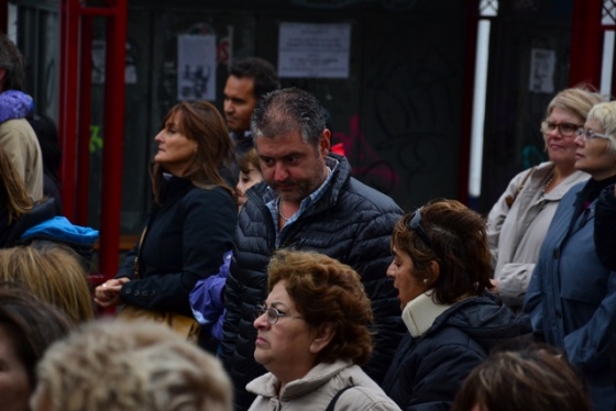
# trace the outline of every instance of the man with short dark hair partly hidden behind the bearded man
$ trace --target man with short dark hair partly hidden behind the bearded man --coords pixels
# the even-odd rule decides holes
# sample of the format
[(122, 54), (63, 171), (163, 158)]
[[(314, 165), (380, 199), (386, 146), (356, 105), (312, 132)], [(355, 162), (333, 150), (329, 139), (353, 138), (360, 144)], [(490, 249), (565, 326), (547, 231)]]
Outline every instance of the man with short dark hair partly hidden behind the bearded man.
[(229, 69), (223, 91), (223, 112), (238, 157), (253, 147), (250, 120), (256, 100), (278, 88), (280, 82), (276, 69), (263, 58), (248, 57)]

